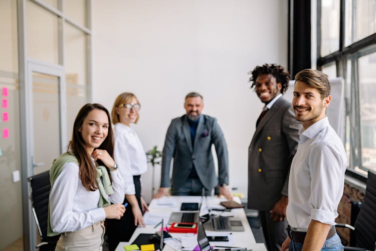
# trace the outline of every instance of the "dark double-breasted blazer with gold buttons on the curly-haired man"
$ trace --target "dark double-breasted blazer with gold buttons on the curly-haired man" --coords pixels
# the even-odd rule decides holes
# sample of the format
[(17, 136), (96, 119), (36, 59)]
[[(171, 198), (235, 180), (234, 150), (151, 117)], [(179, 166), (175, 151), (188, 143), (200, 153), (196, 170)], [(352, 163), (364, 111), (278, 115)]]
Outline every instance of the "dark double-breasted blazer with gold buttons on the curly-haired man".
[(269, 211), (288, 196), (292, 158), (299, 142), (301, 123), (291, 102), (280, 97), (256, 127), (248, 151), (248, 207)]

